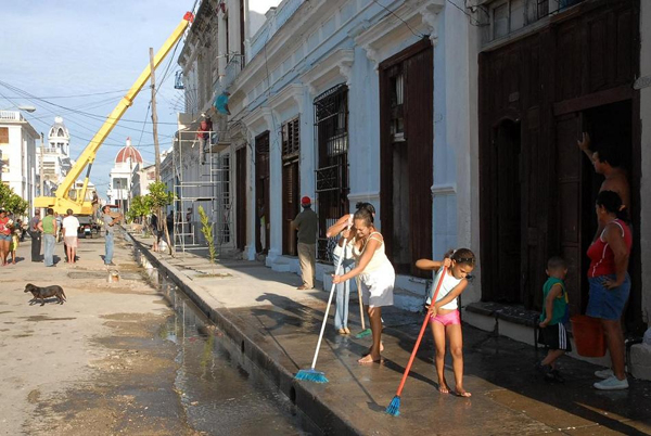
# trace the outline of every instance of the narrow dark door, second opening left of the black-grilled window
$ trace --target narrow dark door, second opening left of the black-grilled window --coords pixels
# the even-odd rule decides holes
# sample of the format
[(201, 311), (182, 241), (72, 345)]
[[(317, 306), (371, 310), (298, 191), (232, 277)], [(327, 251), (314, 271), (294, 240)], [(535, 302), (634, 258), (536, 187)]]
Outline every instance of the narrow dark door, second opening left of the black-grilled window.
[(269, 131), (255, 138), (255, 205), (257, 215), (256, 251), (268, 253), (269, 225)]

